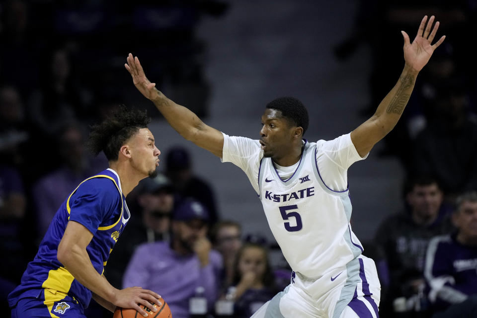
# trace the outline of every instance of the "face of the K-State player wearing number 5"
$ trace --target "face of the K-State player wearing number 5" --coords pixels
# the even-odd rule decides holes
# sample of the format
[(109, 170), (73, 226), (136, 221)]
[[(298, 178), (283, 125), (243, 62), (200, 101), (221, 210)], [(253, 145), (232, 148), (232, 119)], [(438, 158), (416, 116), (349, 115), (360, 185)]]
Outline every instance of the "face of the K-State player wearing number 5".
[(296, 127), (292, 127), (282, 112), (276, 109), (265, 109), (261, 120), (260, 145), (263, 156), (274, 158), (289, 153)]

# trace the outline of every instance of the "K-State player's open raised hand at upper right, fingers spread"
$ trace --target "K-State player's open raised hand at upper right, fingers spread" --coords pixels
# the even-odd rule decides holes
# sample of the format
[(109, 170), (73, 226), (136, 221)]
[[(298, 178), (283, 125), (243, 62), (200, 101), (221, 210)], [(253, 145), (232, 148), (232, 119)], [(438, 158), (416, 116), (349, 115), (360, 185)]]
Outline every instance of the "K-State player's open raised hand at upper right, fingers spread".
[(434, 15), (430, 17), (427, 26), (426, 21), (427, 15), (422, 18), (421, 25), (419, 26), (417, 35), (412, 43), (410, 43), (407, 33), (401, 31), (402, 36), (404, 37), (404, 61), (416, 71), (422, 70), (427, 62), (429, 62), (434, 50), (441, 45), (446, 38), (446, 36), (443, 35), (439, 41), (434, 43), (434, 45), (431, 45), (432, 40), (434, 40), (434, 37), (436, 36), (437, 29), (439, 28), (439, 21), (434, 24), (432, 32), (431, 27), (434, 22)]

